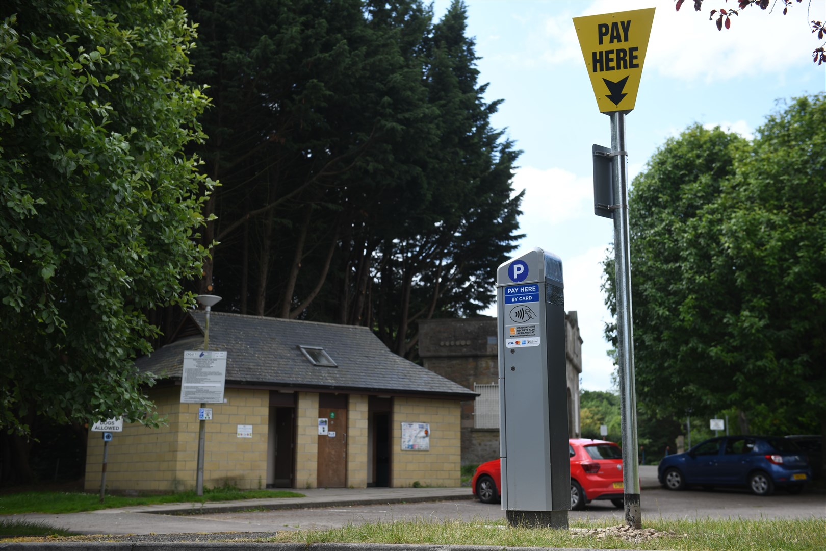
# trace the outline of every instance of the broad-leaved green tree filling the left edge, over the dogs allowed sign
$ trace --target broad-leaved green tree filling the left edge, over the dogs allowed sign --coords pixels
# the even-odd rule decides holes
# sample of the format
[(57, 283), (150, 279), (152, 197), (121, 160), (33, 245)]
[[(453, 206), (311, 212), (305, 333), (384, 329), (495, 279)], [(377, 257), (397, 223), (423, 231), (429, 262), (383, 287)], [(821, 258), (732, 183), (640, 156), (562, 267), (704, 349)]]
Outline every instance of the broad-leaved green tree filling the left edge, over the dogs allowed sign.
[(180, 282), (206, 254), (211, 183), (183, 153), (207, 105), (181, 80), (193, 28), (171, 0), (0, 17), (0, 428), (155, 424), (132, 361), (157, 335), (146, 311), (192, 302)]

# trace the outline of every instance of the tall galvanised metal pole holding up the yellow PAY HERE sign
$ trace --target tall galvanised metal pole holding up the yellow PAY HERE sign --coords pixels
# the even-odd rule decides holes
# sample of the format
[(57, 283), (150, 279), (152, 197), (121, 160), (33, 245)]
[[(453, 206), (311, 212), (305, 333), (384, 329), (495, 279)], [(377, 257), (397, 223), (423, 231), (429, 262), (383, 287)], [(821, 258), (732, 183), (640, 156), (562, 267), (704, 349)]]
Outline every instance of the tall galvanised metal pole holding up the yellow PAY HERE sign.
[(614, 259), (617, 301), (617, 357), (619, 407), (623, 442), (625, 522), (642, 528), (639, 510), (637, 456), (637, 393), (634, 387), (634, 321), (631, 316), (631, 249), (628, 229), (628, 151), (625, 150), (625, 113), (612, 112), (611, 169), (614, 197)]

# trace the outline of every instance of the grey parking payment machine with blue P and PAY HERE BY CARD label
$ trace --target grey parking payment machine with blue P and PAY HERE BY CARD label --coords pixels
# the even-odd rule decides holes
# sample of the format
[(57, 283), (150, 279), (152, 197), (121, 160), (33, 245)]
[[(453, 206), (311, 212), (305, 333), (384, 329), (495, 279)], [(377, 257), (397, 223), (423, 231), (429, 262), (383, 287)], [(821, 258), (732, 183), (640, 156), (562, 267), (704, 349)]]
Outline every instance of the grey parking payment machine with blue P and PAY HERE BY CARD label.
[(534, 248), (496, 271), (502, 510), (567, 528), (571, 508), (563, 265)]

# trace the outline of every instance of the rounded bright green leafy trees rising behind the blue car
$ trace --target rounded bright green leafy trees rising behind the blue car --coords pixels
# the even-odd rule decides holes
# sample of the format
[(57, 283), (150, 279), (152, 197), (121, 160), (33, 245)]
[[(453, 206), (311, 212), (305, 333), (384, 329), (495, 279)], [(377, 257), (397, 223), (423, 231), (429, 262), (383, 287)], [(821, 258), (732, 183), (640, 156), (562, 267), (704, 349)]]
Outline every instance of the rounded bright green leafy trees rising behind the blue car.
[(752, 144), (692, 126), (634, 179), (635, 369), (655, 418), (736, 407), (746, 432), (826, 431), (824, 144), (821, 94)]

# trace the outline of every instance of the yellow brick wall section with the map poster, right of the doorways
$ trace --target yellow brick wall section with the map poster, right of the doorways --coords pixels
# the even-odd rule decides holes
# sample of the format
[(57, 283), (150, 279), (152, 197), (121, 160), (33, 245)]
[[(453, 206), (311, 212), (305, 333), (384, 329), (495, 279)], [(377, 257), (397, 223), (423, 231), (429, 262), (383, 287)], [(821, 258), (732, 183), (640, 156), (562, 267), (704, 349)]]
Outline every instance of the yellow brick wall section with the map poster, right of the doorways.
[[(401, 423), (430, 423), (430, 451), (401, 449)], [(458, 400), (393, 399), (392, 486), (414, 482), (459, 487), (462, 464), (461, 406)]]

